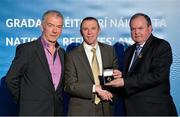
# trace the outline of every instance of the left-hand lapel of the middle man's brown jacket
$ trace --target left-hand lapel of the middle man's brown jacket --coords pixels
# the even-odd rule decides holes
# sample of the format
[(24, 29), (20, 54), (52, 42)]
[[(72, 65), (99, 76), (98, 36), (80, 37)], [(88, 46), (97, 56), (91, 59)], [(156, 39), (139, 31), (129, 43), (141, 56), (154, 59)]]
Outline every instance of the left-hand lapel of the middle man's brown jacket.
[(89, 64), (88, 58), (86, 56), (83, 44), (80, 45), (79, 48), (79, 59), (80, 61), (82, 61), (82, 63), (84, 64), (84, 70), (86, 70), (86, 72), (88, 73), (89, 77), (91, 78), (91, 80), (94, 82), (94, 78), (93, 78), (93, 73), (91, 70), (91, 66)]

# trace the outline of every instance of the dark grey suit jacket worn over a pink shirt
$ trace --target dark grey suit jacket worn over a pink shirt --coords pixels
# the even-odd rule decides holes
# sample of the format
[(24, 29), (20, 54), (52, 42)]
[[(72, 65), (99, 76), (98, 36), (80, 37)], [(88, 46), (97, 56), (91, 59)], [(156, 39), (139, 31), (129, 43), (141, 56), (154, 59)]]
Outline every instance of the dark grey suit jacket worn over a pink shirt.
[(64, 50), (60, 48), (58, 53), (62, 74), (55, 91), (41, 39), (17, 47), (6, 83), (20, 106), (20, 115), (62, 114)]

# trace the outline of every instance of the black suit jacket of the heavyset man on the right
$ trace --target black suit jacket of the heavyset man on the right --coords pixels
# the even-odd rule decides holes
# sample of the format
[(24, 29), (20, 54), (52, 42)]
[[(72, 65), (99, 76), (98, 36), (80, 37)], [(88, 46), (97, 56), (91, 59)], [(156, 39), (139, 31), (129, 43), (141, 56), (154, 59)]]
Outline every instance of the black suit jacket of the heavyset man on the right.
[(169, 43), (151, 35), (128, 71), (135, 46), (126, 50), (124, 58), (126, 114), (176, 115), (170, 95), (172, 51)]

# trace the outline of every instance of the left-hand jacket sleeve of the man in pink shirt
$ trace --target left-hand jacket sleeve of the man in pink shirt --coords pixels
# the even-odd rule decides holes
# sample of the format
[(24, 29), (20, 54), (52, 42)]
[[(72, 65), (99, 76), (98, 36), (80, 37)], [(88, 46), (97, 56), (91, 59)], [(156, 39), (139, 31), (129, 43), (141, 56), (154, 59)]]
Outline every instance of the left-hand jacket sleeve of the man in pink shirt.
[(27, 58), (26, 54), (27, 53), (25, 52), (25, 48), (23, 45), (17, 46), (15, 57), (5, 78), (7, 87), (13, 95), (16, 103), (18, 103), (18, 100), (20, 98), (20, 79), (22, 78), (25, 71), (25, 64)]

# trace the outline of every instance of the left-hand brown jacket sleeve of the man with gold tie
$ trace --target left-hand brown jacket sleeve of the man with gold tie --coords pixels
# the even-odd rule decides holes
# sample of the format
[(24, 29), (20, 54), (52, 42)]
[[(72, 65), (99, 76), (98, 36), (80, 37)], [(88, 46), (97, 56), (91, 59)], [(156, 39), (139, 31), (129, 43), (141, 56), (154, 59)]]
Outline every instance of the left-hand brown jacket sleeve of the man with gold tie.
[(86, 79), (86, 77), (80, 75), (82, 72), (84, 72), (84, 68), (78, 67), (78, 64), (79, 63), (76, 61), (76, 59), (74, 59), (73, 54), (66, 54), (64, 90), (73, 97), (91, 99), (93, 96), (93, 84), (88, 81), (81, 82), (81, 79)]

